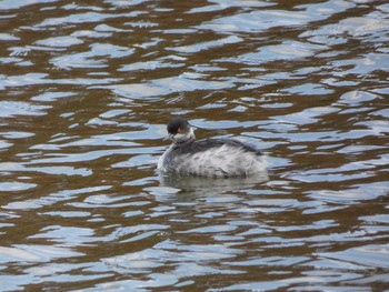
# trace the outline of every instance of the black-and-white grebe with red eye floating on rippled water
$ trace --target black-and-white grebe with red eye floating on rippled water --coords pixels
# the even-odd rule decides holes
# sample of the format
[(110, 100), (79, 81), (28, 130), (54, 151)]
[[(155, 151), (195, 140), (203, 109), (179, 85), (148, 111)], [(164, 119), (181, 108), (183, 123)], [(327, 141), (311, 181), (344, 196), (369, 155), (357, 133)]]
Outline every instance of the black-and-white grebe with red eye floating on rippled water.
[(240, 141), (231, 139), (194, 140), (187, 120), (172, 118), (168, 123), (173, 142), (158, 161), (164, 172), (207, 177), (249, 177), (266, 171), (263, 154)]

